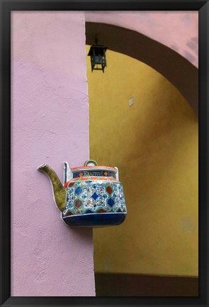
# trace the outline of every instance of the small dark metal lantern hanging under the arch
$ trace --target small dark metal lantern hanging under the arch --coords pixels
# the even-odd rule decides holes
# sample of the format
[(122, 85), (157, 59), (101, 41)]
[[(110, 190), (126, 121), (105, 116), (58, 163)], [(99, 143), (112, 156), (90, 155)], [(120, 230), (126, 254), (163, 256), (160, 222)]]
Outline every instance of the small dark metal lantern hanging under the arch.
[(103, 45), (92, 45), (88, 55), (91, 56), (91, 71), (102, 70), (106, 67), (106, 50)]

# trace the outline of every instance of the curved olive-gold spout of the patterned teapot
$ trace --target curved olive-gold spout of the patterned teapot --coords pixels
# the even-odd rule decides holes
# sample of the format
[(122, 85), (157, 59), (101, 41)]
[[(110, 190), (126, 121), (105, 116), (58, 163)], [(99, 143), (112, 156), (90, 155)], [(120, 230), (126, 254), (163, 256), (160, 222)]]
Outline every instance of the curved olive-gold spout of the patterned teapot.
[(67, 191), (64, 188), (64, 185), (62, 185), (57, 174), (52, 170), (52, 168), (50, 168), (50, 166), (45, 163), (41, 166), (38, 166), (38, 171), (44, 172), (50, 178), (57, 208), (60, 211), (64, 211), (66, 207)]

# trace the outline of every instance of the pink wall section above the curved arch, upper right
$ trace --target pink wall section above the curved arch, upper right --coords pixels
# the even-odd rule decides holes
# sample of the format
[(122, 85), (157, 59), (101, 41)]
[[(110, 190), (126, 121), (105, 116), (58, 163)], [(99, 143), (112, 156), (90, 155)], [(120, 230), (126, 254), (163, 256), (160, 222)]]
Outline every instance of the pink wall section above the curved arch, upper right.
[(85, 17), (142, 33), (198, 67), (198, 11), (85, 11)]

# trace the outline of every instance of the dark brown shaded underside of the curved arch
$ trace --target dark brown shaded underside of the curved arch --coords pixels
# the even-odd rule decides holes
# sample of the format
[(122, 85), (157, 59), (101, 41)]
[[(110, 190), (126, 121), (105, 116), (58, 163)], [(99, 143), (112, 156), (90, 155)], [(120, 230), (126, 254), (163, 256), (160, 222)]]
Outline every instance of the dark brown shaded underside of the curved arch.
[(198, 68), (171, 48), (127, 28), (86, 22), (86, 44), (98, 44), (142, 61), (164, 75), (191, 104), (198, 116)]

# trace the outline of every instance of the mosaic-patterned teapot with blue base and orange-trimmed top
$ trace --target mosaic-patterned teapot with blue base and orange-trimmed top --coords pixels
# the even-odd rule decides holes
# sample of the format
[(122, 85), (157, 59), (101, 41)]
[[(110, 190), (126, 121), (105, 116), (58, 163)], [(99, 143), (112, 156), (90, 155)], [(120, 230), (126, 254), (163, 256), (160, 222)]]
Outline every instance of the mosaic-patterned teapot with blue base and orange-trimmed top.
[(42, 164), (38, 170), (49, 176), (55, 203), (65, 224), (104, 227), (120, 225), (125, 220), (127, 210), (118, 168), (98, 166), (94, 160), (69, 168), (64, 162), (64, 185), (47, 164)]

